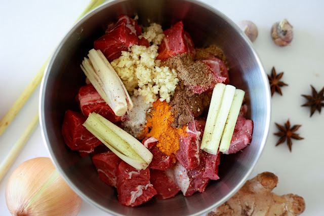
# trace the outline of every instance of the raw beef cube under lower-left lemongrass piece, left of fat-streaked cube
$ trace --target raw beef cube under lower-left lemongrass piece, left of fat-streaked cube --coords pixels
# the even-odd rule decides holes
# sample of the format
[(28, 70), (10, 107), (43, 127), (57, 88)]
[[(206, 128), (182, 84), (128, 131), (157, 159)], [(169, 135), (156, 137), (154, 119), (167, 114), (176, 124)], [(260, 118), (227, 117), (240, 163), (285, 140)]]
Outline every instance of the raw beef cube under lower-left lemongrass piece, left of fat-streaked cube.
[(113, 187), (117, 183), (117, 168), (121, 159), (113, 152), (106, 152), (92, 157), (100, 179)]

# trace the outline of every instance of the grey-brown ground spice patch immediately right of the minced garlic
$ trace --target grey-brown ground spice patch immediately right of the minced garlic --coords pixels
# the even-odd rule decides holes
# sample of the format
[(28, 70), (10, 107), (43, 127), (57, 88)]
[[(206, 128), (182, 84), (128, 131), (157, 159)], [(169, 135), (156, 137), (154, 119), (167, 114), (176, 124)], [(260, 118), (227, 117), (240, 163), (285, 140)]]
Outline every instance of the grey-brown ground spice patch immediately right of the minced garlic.
[(215, 84), (215, 79), (210, 73), (209, 67), (203, 62), (193, 61), (186, 53), (173, 56), (161, 64), (176, 69), (179, 80), (185, 86), (209, 87)]

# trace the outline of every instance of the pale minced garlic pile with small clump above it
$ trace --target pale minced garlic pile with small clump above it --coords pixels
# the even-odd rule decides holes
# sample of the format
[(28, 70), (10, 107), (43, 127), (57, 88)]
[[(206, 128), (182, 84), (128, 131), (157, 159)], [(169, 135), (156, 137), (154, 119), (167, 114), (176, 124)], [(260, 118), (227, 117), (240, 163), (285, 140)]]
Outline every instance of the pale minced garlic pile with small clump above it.
[(175, 69), (160, 67), (160, 60), (155, 60), (158, 56), (157, 45), (164, 38), (163, 30), (160, 25), (153, 23), (141, 36), (153, 45), (133, 45), (129, 52), (122, 51), (119, 58), (110, 62), (111, 66), (127, 91), (142, 95), (146, 103), (154, 102), (158, 97), (161, 101), (170, 102), (179, 80)]

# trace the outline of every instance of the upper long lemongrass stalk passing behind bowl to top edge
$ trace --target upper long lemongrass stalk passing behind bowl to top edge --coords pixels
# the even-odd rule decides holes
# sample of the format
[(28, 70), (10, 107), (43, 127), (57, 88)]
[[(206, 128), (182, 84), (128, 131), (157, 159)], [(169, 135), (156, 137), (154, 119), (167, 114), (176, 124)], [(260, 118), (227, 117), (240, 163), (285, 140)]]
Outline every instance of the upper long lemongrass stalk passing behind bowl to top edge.
[[(104, 0), (92, 0), (87, 8), (82, 12), (82, 14), (77, 18), (76, 22), (82, 18), (85, 14), (90, 12), (91, 10), (98, 7), (100, 4), (102, 4)], [(52, 54), (51, 54), (52, 55)], [(4, 131), (7, 129), (9, 124), (14, 120), (14, 118), (17, 116), (21, 108), (25, 105), (31, 94), (35, 91), (37, 86), (41, 83), (42, 78), (44, 76), (45, 68), (49, 62), (50, 57), (46, 60), (46, 62), (43, 64), (41, 69), (38, 70), (35, 77), (31, 80), (31, 82), (28, 84), (28, 86), (24, 89), (24, 91), (21, 93), (21, 95), (18, 97), (18, 99), (14, 102), (14, 104), (10, 107), (10, 110), (8, 113), (4, 116), (4, 118), (0, 121), (0, 136), (4, 133)]]

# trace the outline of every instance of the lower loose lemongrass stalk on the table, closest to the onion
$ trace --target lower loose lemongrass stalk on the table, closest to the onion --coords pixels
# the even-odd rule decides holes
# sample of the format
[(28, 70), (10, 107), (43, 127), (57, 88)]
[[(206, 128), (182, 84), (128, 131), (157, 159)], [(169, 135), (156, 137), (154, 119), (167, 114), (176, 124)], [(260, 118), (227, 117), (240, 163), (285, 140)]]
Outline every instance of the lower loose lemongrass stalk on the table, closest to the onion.
[(29, 139), (29, 136), (32, 134), (36, 126), (38, 125), (38, 113), (32, 119), (30, 124), (27, 126), (26, 130), (22, 134), (22, 136), (18, 139), (16, 144), (10, 150), (9, 154), (5, 158), (5, 160), (0, 165), (0, 181), (8, 171), (11, 164), (15, 161), (19, 153), (21, 152), (22, 148), (25, 146), (26, 141)]

